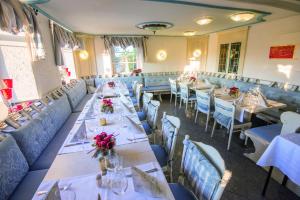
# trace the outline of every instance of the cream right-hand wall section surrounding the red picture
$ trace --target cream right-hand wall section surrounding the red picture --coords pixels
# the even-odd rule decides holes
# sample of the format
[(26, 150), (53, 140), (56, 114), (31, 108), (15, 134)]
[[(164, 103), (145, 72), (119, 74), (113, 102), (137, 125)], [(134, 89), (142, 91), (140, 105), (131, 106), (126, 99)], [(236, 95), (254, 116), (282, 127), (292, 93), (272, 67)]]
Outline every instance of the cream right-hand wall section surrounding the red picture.
[[(293, 59), (269, 59), (271, 46), (296, 45)], [(300, 85), (300, 15), (254, 25), (249, 30), (243, 75)], [(283, 65), (290, 76), (278, 71)]]

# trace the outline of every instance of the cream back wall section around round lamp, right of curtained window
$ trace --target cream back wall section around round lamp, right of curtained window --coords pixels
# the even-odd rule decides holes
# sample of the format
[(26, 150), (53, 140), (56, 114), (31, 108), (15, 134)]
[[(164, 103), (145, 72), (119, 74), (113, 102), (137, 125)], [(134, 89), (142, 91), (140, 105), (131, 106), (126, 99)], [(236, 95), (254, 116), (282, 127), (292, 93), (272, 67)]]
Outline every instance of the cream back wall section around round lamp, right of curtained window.
[[(185, 37), (150, 36), (147, 40), (147, 60), (143, 72), (182, 71), (186, 65), (187, 41)], [(159, 50), (167, 52), (164, 61), (158, 61)]]

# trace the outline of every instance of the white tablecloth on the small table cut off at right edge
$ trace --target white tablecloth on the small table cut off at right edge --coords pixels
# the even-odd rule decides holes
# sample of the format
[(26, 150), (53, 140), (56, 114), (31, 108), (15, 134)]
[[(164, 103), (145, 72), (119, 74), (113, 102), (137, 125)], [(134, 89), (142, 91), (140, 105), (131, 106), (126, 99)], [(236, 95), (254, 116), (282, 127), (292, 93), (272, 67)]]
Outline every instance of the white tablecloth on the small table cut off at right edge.
[(257, 165), (274, 166), (300, 185), (300, 134), (280, 135), (273, 139)]

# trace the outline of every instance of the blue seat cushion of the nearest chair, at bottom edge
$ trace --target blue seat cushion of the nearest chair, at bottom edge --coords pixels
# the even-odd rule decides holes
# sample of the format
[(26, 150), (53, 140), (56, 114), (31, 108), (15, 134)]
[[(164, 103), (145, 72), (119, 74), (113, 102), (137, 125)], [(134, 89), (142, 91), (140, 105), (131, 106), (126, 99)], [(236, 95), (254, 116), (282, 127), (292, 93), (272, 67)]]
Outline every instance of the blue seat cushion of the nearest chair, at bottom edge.
[(197, 200), (195, 195), (179, 183), (169, 183), (175, 200)]

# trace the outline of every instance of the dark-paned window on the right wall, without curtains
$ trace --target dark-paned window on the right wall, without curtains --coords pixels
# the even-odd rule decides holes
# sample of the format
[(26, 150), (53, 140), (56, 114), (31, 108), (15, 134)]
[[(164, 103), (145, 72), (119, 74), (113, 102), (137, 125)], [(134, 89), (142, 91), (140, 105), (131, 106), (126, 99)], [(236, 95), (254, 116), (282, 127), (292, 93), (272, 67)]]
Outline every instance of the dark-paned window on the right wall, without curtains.
[(241, 42), (221, 44), (218, 72), (238, 73)]

